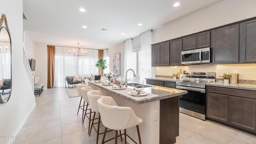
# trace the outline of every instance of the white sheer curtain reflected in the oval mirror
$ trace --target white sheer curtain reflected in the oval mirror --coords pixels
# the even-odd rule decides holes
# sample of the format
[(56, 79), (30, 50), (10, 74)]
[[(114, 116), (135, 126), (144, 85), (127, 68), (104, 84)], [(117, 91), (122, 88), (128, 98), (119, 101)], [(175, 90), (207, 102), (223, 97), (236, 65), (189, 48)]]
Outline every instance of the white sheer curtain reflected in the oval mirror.
[[(0, 42), (0, 80), (11, 78), (10, 42)], [(7, 48), (7, 49), (6, 49)]]

